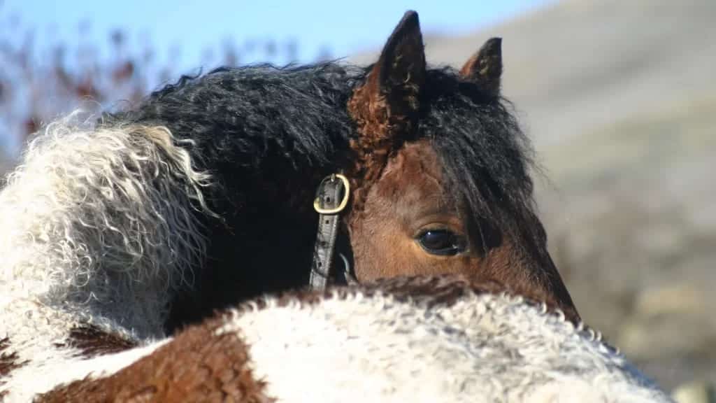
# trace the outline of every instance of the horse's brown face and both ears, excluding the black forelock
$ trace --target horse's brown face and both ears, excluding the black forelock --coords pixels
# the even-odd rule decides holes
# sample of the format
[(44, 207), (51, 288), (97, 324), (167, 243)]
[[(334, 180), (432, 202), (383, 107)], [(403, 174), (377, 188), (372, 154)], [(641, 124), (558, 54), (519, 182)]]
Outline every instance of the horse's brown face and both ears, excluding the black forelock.
[[(488, 41), (460, 70), (465, 85), (479, 87), (493, 103), (499, 102), (501, 72), (499, 39)], [(357, 279), (460, 273), (498, 281), (578, 319), (546, 239), (501, 229), (498, 220), (470, 212), (450, 189), (455, 185), (445, 180), (445, 156), (441, 160), (430, 138), (417, 134), (420, 125), (430, 124), (421, 120), (431, 108), (421, 94), (426, 75), (417, 16), (407, 14), (349, 102), (360, 136), (352, 143), (359, 163), (349, 172), (360, 178), (357, 201), (347, 217)], [(521, 215), (520, 225), (543, 234), (531, 211)]]

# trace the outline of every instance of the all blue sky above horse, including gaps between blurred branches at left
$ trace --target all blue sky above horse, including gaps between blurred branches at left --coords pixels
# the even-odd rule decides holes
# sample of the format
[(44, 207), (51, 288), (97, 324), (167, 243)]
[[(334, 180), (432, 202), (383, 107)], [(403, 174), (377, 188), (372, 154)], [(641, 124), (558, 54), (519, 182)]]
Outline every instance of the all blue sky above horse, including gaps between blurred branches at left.
[[(420, 14), (425, 34), (459, 34), (498, 24), (554, 0), (0, 0), (0, 44), (11, 42), (15, 49), (32, 43), (33, 65), (52, 65), (53, 50), (60, 44), (67, 50), (64, 63), (72, 67), (84, 60), (112, 62), (115, 52), (110, 33), (127, 34), (126, 51), (133, 60), (144, 49), (153, 58), (145, 65), (149, 88), (160, 80), (175, 80), (183, 73), (207, 71), (223, 63), (223, 45), (232, 43), (239, 52), (238, 63), (312, 62), (329, 49), (332, 59), (376, 49), (384, 44), (407, 9)], [(80, 27), (84, 27), (80, 29)], [(28, 41), (32, 38), (32, 41)], [(267, 39), (279, 46), (278, 57), (267, 57)], [(286, 57), (286, 44), (298, 46), (295, 59)], [(248, 43), (255, 44), (247, 52)], [(89, 53), (87, 53), (89, 49)], [(207, 49), (211, 49), (207, 52)], [(213, 57), (208, 57), (208, 54)], [(11, 67), (11, 66), (10, 66)], [(0, 72), (9, 71), (0, 52)], [(160, 72), (167, 72), (165, 78)], [(29, 99), (29, 92), (21, 93)], [(24, 95), (23, 95), (24, 94)], [(48, 102), (52, 98), (47, 98)], [(9, 109), (10, 116), (22, 115), (24, 101)], [(105, 105), (106, 106), (106, 105)], [(75, 105), (67, 105), (74, 108)], [(14, 153), (19, 129), (0, 115), (0, 150)]]

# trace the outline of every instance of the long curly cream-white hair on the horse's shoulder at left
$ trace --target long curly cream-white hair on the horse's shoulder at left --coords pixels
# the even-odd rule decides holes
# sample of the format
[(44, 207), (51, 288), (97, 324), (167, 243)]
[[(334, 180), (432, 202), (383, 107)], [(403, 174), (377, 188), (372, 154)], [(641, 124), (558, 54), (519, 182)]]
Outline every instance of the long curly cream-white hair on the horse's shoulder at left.
[(163, 336), (171, 290), (205, 250), (193, 209), (211, 214), (187, 146), (163, 127), (69, 120), (29, 144), (0, 194), (0, 334), (42, 346), (37, 331), (62, 341), (82, 322)]

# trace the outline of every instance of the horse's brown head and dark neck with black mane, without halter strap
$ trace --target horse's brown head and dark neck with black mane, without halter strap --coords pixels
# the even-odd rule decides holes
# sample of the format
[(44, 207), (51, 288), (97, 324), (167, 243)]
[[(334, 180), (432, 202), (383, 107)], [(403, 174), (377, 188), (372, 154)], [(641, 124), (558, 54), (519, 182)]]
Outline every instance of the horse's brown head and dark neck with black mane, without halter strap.
[(202, 196), (221, 218), (187, 213), (205, 253), (168, 331), (309, 283), (314, 193), (340, 172), (352, 191), (334, 256), (358, 280), (460, 273), (579, 318), (534, 213), (530, 142), (500, 96), (500, 40), (460, 71), (427, 67), (423, 48), (408, 12), (374, 65), (220, 68), (107, 120), (168, 128), (212, 179)]

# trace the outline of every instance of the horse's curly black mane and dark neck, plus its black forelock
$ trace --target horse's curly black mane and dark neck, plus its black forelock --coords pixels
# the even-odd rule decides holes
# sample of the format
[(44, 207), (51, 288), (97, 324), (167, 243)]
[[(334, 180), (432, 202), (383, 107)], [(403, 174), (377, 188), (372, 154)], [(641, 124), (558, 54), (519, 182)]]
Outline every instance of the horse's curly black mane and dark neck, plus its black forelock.
[[(210, 262), (197, 286), (226, 290), (208, 301), (188, 297), (188, 305), (216, 308), (234, 302), (226, 295), (306, 283), (316, 223), (296, 210), (308, 211), (321, 177), (350, 158), (349, 140), (358, 134), (347, 103), (369, 71), (335, 62), (220, 68), (182, 77), (136, 108), (105, 117), (108, 124), (164, 125), (193, 141), (195, 168), (216, 180), (207, 199), (223, 222), (203, 217), (212, 232)], [(435, 148), (453, 196), (473, 216), (465, 218), (478, 223), (478, 245), (489, 243), (485, 224), (543, 245), (531, 146), (510, 104), (442, 68), (427, 70), (421, 105), (415, 136)], [(531, 252), (546, 255), (538, 249)]]

